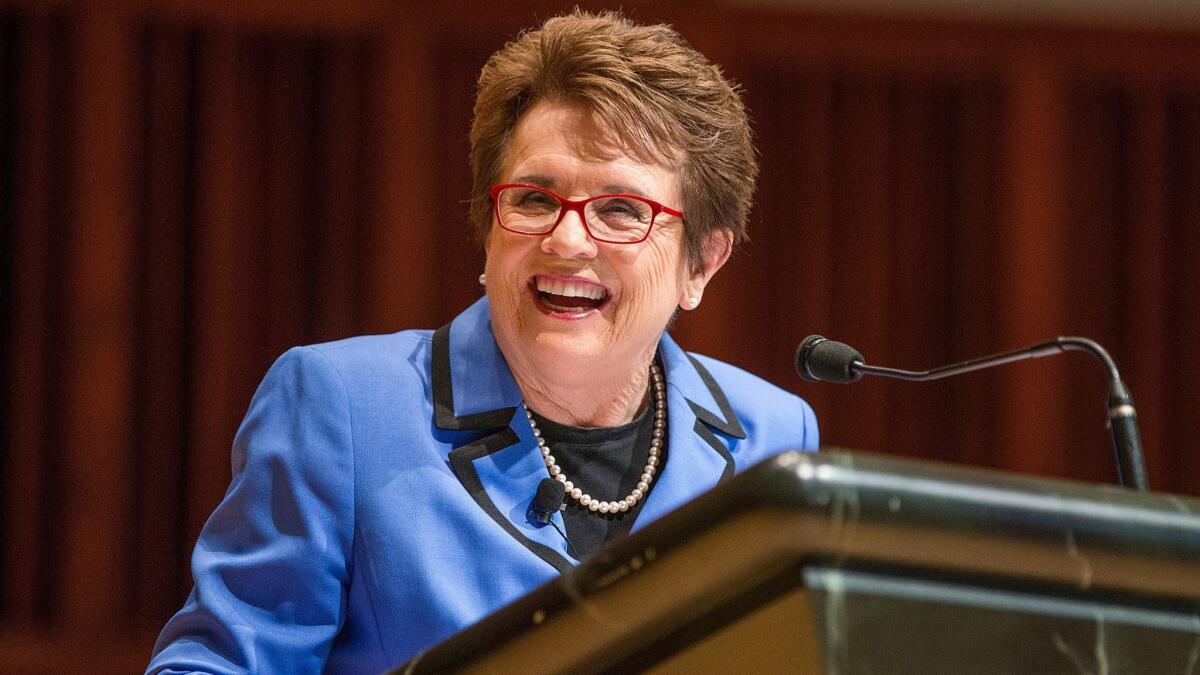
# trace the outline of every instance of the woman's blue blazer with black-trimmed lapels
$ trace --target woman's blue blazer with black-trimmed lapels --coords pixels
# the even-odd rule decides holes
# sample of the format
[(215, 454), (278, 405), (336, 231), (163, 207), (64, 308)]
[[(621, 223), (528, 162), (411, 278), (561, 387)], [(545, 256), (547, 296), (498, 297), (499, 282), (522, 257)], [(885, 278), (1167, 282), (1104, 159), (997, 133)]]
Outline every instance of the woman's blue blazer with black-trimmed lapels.
[[(668, 460), (634, 530), (817, 446), (797, 396), (667, 335), (659, 356)], [(437, 331), (288, 351), (233, 473), (148, 673), (379, 673), (578, 562), (526, 516), (546, 468), (486, 299)]]

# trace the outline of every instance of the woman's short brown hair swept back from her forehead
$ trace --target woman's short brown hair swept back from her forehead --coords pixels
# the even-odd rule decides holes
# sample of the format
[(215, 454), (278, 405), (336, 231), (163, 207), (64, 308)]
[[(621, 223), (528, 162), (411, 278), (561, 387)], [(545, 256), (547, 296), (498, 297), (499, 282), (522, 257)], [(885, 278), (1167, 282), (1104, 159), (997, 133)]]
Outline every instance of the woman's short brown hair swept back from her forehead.
[(682, 153), (684, 240), (694, 267), (712, 233), (745, 238), (758, 162), (738, 86), (668, 25), (576, 10), (518, 35), (479, 76), (470, 217), (480, 239), (492, 221), (488, 189), (499, 181), (512, 132), (544, 100), (582, 103), (628, 144), (658, 157)]

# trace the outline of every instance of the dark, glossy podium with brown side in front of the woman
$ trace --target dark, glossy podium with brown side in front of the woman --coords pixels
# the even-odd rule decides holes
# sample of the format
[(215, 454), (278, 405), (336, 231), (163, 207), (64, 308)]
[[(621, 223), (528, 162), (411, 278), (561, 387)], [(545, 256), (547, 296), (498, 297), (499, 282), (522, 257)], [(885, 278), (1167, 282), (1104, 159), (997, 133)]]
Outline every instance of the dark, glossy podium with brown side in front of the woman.
[(1200, 500), (784, 453), (394, 673), (1200, 673)]

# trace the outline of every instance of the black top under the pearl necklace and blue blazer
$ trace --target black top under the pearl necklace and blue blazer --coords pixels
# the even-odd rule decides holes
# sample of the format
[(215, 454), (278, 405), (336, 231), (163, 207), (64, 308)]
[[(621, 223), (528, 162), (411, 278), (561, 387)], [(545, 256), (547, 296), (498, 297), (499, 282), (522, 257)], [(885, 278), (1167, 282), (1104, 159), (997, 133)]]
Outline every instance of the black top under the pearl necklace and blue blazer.
[[(634, 491), (650, 456), (654, 437), (652, 410), (654, 406), (646, 406), (646, 412), (629, 424), (599, 429), (558, 424), (536, 412), (533, 417), (566, 479), (595, 498), (617, 501)], [(666, 462), (666, 435), (662, 440), (660, 470)], [(653, 482), (650, 489), (654, 489)], [(600, 513), (581, 507), (568, 495), (563, 521), (575, 557), (586, 557), (605, 542), (628, 534), (643, 503), (646, 496), (625, 513)]]

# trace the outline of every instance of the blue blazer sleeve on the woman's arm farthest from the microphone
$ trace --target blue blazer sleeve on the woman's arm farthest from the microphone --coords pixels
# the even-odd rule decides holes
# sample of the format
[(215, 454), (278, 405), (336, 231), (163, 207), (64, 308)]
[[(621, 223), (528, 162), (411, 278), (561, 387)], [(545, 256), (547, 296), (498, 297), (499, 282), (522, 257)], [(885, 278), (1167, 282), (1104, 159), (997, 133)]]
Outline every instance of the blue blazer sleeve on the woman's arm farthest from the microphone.
[(146, 673), (319, 673), (343, 621), (353, 495), (346, 388), (324, 354), (290, 350), (251, 401), (196, 585)]

